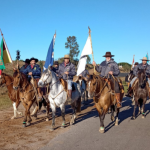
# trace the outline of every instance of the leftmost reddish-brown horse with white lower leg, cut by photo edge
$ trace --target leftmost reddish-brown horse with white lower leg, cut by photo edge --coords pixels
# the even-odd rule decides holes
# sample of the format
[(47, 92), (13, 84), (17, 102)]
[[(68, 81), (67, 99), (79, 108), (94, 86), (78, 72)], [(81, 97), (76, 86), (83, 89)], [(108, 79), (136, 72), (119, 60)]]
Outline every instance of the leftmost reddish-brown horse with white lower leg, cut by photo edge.
[(12, 101), (14, 108), (14, 116), (11, 119), (15, 119), (17, 114), (22, 115), (22, 113), (17, 110), (20, 104), (19, 90), (15, 91), (13, 89), (13, 77), (5, 73), (2, 73), (1, 75), (0, 86), (2, 85), (6, 85), (7, 87), (8, 96)]

